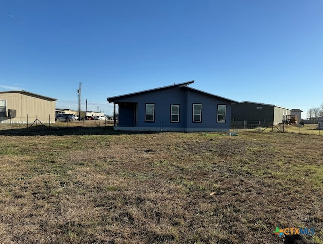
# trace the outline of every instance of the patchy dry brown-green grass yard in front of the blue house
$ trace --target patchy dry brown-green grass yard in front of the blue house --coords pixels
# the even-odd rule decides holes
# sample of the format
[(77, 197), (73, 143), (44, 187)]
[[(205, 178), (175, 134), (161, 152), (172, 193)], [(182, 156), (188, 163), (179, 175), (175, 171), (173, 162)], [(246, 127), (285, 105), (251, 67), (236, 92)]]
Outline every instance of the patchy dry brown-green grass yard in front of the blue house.
[(77, 125), (0, 130), (1, 243), (323, 241), (323, 136)]

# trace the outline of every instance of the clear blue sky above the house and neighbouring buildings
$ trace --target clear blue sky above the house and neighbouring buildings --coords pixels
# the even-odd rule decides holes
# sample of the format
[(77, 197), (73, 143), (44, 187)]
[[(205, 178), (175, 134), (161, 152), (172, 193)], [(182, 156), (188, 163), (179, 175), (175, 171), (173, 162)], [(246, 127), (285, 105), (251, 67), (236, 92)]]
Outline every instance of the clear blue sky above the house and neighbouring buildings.
[(195, 80), (236, 101), (323, 103), (323, 1), (0, 0), (0, 90), (97, 108)]

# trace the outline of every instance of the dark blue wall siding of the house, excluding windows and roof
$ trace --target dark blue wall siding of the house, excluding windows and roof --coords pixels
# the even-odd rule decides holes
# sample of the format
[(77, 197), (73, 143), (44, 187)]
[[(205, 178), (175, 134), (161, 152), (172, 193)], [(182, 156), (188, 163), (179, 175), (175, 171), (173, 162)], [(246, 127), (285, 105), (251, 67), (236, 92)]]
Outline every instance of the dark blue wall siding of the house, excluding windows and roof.
[[(133, 111), (129, 109), (129, 103), (137, 103), (137, 130), (152, 131), (228, 131), (230, 129), (231, 102), (225, 99), (217, 99), (214, 96), (205, 95), (200, 92), (188, 90), (180, 87), (171, 87), (163, 90), (150, 91), (144, 94), (135, 94), (129, 97), (115, 99), (118, 106), (119, 124), (115, 129), (131, 128), (129, 121)], [(123, 103), (125, 105), (123, 105)], [(145, 121), (145, 104), (155, 104), (155, 121)], [(195, 123), (192, 121), (193, 104), (202, 104), (202, 121)], [(128, 104), (128, 108), (126, 106)], [(171, 104), (180, 105), (179, 122), (170, 121)], [(226, 106), (226, 123), (217, 123), (218, 104)], [(122, 116), (128, 114), (128, 118)], [(130, 126), (130, 127), (129, 127)], [(127, 127), (127, 128), (126, 128)]]

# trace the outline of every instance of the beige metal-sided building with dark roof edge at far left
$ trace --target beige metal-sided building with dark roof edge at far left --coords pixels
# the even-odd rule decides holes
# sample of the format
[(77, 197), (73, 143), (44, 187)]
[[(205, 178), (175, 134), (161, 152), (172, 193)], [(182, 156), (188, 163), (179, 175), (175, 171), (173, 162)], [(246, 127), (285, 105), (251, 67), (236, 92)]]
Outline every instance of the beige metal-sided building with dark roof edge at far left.
[(0, 92), (0, 123), (55, 122), (55, 101), (27, 91)]

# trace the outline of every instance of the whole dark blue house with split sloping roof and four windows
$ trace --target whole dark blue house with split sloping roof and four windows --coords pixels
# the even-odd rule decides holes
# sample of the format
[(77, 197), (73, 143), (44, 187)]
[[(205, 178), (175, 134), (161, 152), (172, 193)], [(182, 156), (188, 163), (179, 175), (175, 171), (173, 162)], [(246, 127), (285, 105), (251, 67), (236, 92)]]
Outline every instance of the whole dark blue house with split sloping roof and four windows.
[(108, 97), (124, 131), (229, 131), (236, 101), (191, 87), (194, 81)]

